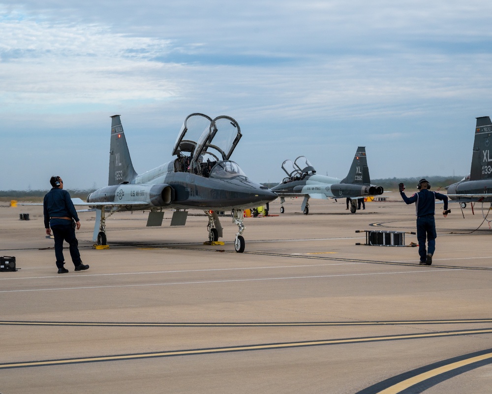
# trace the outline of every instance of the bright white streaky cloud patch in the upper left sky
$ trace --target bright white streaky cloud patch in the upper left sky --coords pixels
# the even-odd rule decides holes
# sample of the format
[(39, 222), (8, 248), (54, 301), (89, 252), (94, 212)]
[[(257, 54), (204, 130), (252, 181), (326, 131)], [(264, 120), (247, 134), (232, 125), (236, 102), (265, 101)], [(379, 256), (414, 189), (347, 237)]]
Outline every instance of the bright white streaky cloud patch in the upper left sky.
[(0, 23), (0, 100), (12, 106), (173, 98), (169, 65), (151, 61), (169, 41), (128, 37), (96, 26)]

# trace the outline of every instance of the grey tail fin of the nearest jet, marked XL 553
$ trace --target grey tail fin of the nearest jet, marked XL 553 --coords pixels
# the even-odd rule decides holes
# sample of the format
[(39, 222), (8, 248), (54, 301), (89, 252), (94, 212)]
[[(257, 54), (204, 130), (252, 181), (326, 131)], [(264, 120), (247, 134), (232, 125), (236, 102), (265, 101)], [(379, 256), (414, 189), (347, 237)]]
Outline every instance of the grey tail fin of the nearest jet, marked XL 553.
[(113, 115), (111, 117), (108, 186), (130, 183), (136, 176), (137, 173), (131, 164), (130, 151), (124, 137), (120, 115)]

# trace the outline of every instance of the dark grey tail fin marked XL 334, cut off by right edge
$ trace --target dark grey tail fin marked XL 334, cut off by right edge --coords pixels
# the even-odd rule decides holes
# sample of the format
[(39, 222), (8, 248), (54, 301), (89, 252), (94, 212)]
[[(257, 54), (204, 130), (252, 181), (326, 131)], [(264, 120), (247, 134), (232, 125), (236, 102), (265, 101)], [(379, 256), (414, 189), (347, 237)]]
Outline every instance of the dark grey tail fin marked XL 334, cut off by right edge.
[(492, 122), (489, 116), (477, 118), (471, 157), (470, 181), (492, 179)]

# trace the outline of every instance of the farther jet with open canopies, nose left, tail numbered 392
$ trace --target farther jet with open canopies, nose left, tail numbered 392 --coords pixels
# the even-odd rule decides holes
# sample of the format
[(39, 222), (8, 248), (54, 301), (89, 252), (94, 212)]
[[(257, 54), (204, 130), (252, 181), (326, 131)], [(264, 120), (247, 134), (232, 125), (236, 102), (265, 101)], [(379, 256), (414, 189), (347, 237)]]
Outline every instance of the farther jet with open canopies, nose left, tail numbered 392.
[(383, 194), (381, 186), (370, 184), (366, 147), (359, 146), (352, 166), (344, 179), (316, 174), (316, 170), (305, 156), (299, 156), (294, 162), (285, 160), (282, 169), (287, 174), (282, 183), (272, 188), (280, 197), (280, 213), (284, 213), (285, 197), (304, 197), (301, 209), (309, 213), (309, 198), (346, 198), (351, 199), (350, 212), (357, 211), (357, 199)]

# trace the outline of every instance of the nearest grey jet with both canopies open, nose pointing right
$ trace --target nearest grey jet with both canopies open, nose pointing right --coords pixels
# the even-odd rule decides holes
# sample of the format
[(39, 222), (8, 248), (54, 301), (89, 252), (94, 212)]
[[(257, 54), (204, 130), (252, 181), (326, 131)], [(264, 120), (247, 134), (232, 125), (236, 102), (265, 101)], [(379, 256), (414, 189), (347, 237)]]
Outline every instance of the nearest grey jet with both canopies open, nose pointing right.
[(252, 182), (229, 160), (242, 137), (238, 123), (228, 116), (189, 115), (173, 149), (176, 158), (139, 175), (131, 163), (120, 115), (111, 118), (108, 186), (91, 193), (87, 202), (74, 198), (75, 205), (96, 210), (93, 241), (106, 244), (105, 221), (117, 211), (150, 210), (147, 226), (160, 226), (165, 208), (176, 210), (171, 226), (184, 226), (187, 209), (203, 209), (209, 240), (214, 242), (223, 236), (216, 211), (232, 210), (239, 227), (235, 249), (243, 252), (244, 209), (266, 204), (277, 195)]

